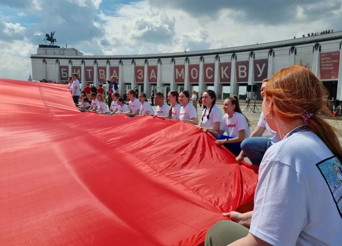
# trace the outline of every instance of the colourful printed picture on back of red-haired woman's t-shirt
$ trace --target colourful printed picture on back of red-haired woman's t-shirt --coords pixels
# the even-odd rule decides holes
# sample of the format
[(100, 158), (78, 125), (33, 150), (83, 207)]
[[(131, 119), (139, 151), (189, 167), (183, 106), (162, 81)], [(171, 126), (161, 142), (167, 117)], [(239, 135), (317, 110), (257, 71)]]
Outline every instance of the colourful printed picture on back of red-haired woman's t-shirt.
[(337, 210), (342, 218), (342, 165), (336, 156), (316, 164), (327, 182)]

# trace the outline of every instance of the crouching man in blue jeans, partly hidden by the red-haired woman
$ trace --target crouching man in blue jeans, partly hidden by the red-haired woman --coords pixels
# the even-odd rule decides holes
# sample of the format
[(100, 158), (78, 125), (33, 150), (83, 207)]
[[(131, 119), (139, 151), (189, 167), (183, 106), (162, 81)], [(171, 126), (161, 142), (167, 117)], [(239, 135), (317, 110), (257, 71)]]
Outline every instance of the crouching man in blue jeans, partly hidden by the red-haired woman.
[[(261, 86), (261, 97), (264, 98), (265, 96), (265, 86), (269, 78), (265, 78), (262, 82)], [(265, 129), (268, 132), (268, 138), (262, 137)], [(264, 118), (264, 114), (261, 112), (260, 119), (258, 122), (257, 127), (255, 127), (252, 134), (249, 138), (246, 138), (244, 141), (241, 142), (241, 152), (236, 157), (236, 161), (240, 163), (240, 161), (244, 160), (246, 156), (253, 165), (260, 165), (261, 160), (266, 152), (266, 150), (274, 143), (280, 141), (279, 134), (273, 131), (267, 125), (267, 122)]]

